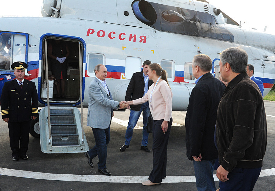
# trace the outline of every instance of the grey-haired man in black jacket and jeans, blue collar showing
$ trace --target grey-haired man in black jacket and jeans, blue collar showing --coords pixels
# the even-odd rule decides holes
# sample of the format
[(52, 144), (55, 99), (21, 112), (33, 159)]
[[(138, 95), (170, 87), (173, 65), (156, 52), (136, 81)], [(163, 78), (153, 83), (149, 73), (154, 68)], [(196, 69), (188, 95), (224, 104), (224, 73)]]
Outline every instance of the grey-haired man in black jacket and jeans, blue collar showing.
[(216, 190), (213, 178), (218, 151), (214, 144), (214, 131), (218, 103), (225, 85), (210, 73), (212, 60), (205, 54), (196, 55), (192, 72), (193, 88), (185, 117), (186, 155), (193, 161), (198, 191)]

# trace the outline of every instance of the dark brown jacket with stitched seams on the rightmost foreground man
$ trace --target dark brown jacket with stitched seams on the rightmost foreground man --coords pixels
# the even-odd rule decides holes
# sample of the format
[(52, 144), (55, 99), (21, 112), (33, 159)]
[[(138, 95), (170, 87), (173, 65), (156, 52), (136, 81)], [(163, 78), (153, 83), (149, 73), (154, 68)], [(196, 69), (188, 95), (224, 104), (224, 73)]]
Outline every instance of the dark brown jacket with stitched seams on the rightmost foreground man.
[(262, 167), (266, 151), (266, 113), (262, 94), (247, 73), (227, 84), (217, 112), (219, 163), (231, 172)]

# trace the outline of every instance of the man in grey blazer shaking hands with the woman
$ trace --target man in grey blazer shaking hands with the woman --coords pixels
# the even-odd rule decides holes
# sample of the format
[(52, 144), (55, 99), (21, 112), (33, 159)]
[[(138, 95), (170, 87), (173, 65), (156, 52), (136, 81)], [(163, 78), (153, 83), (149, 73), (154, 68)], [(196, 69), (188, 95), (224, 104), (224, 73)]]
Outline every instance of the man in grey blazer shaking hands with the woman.
[(92, 127), (96, 145), (85, 153), (88, 163), (94, 167), (92, 159), (98, 155), (98, 172), (110, 176), (106, 167), (107, 144), (110, 142), (110, 124), (113, 108), (126, 108), (128, 105), (114, 101), (106, 84), (107, 68), (98, 64), (94, 68), (95, 78), (89, 86), (89, 107), (87, 126)]

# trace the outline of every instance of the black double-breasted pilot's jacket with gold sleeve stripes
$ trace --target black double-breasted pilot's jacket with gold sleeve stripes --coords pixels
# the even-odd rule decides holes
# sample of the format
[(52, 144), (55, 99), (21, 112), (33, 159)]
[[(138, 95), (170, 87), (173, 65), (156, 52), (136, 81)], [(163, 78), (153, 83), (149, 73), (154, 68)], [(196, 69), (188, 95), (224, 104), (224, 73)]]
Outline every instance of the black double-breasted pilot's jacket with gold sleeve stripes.
[(1, 112), (2, 119), (9, 118), (10, 122), (30, 121), (31, 116), (38, 117), (35, 83), (24, 79), (20, 89), (16, 79), (5, 82), (1, 95)]

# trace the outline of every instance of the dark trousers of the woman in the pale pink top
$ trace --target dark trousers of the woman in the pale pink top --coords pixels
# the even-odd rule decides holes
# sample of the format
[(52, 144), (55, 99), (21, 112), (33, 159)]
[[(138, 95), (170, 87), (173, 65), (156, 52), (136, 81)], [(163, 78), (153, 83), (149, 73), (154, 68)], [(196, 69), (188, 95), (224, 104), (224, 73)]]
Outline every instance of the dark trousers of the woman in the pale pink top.
[(153, 121), (153, 169), (149, 175), (149, 180), (154, 183), (162, 181), (166, 177), (166, 163), (167, 163), (167, 145), (171, 132), (173, 119), (168, 122), (167, 132), (164, 134), (161, 129), (163, 119)]

